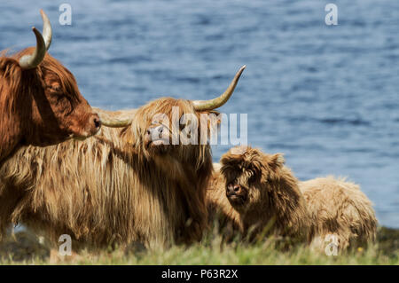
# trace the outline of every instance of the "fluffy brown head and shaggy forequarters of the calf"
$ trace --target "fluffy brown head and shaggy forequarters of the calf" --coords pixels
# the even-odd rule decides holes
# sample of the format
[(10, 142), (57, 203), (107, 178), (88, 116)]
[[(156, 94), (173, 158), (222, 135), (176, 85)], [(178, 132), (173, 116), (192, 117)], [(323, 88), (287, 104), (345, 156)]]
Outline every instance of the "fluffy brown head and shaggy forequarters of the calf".
[(207, 191), (211, 210), (219, 210), (244, 234), (252, 231), (256, 236), (270, 227), (269, 232), (279, 236), (308, 235), (308, 211), (298, 180), (280, 153), (235, 147), (223, 154), (221, 165)]

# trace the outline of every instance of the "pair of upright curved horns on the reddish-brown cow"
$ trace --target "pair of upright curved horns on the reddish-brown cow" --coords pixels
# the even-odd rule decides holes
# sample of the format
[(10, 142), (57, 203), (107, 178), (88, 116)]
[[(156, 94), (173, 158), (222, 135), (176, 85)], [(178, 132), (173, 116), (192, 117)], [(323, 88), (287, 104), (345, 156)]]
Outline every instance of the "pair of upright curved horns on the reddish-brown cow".
[(47, 49), (49, 49), (51, 44), (52, 32), (50, 20), (43, 12), (43, 10), (41, 10), (40, 12), (43, 18), (44, 37), (35, 27), (32, 28), (36, 36), (36, 48), (33, 54), (24, 55), (20, 58), (20, 67), (23, 69), (31, 69), (37, 67), (43, 61), (46, 51)]

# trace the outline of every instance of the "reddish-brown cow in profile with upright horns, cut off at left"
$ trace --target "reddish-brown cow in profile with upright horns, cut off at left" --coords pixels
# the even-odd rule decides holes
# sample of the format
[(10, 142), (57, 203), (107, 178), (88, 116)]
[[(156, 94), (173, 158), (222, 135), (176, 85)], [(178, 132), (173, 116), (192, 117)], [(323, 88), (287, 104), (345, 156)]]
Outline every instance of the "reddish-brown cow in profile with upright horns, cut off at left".
[(47, 53), (51, 24), (45, 13), (36, 47), (0, 54), (0, 163), (22, 145), (54, 145), (87, 138), (101, 126), (74, 75)]

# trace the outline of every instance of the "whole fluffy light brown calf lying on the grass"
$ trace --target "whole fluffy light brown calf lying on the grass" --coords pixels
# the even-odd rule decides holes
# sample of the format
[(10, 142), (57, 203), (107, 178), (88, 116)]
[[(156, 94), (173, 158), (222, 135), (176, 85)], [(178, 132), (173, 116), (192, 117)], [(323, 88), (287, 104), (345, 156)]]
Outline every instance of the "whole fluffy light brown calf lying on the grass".
[(210, 183), (208, 208), (222, 215), (223, 225), (243, 234), (253, 229), (253, 237), (272, 224), (270, 232), (315, 248), (325, 248), (325, 240), (343, 249), (375, 239), (372, 203), (358, 185), (333, 177), (300, 182), (284, 162), (279, 153), (232, 148)]

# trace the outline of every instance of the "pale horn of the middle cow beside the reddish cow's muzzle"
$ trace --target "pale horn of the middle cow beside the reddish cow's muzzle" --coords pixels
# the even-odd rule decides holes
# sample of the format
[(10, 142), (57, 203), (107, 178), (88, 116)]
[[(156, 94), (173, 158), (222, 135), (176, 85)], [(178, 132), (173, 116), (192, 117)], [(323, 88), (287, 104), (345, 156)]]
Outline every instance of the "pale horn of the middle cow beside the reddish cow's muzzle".
[(98, 114), (101, 119), (101, 124), (110, 128), (122, 128), (129, 126), (133, 120), (136, 109), (107, 111), (97, 107), (92, 107), (94, 112)]

